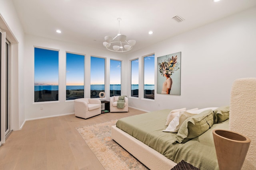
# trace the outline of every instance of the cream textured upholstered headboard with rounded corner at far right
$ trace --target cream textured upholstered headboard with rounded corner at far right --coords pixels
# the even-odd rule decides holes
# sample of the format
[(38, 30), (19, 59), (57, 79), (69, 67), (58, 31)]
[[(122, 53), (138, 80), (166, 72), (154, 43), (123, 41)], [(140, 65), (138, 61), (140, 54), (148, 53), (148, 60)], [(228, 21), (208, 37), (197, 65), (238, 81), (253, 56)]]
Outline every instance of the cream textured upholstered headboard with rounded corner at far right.
[(229, 118), (229, 129), (246, 135), (251, 140), (242, 170), (256, 170), (256, 78), (234, 81)]

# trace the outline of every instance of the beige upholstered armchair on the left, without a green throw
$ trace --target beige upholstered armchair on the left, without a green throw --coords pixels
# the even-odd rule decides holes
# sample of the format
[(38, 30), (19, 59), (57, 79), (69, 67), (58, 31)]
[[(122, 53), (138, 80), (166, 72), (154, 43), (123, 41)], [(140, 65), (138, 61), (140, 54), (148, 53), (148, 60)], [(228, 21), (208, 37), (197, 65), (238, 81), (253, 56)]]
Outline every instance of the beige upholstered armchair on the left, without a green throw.
[(101, 102), (99, 99), (79, 98), (74, 100), (75, 115), (87, 119), (101, 113)]

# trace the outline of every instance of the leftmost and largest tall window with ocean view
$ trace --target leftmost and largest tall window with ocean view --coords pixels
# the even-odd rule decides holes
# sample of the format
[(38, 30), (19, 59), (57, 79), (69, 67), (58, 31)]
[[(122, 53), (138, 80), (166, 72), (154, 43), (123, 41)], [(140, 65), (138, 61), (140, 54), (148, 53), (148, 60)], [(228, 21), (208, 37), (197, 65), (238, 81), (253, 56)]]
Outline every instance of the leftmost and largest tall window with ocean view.
[(34, 48), (34, 102), (58, 100), (59, 52)]

